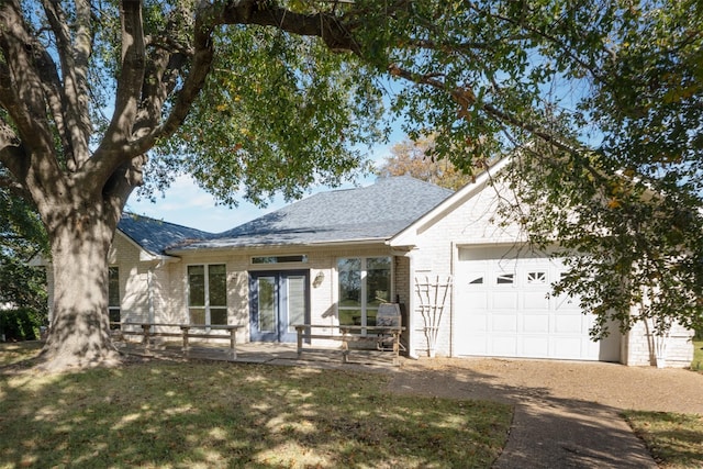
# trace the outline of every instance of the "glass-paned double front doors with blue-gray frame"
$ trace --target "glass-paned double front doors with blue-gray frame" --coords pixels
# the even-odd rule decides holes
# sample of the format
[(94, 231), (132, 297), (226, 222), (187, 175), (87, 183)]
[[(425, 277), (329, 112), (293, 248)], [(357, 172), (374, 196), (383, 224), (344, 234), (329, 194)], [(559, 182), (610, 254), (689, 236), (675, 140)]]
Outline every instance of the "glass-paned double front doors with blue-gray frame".
[(310, 322), (309, 270), (249, 272), (252, 342), (295, 342)]

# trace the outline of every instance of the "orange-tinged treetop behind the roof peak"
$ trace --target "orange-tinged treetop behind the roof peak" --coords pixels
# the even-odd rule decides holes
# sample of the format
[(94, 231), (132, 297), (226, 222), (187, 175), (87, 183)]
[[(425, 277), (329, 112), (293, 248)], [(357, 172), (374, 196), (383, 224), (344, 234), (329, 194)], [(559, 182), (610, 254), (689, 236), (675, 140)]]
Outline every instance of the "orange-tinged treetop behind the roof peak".
[(458, 190), (473, 179), (472, 175), (459, 171), (448, 159), (436, 159), (434, 147), (434, 137), (397, 143), (391, 148), (391, 156), (376, 172), (382, 177), (412, 176), (451, 190)]

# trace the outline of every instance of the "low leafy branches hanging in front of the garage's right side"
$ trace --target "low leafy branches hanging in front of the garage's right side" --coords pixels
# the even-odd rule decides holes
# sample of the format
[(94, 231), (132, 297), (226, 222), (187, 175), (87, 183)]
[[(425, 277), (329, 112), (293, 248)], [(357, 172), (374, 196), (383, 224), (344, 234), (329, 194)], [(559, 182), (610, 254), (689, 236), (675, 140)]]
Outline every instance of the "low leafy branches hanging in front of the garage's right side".
[(674, 320), (700, 326), (703, 217), (692, 201), (609, 177), (596, 154), (545, 146), (520, 152), (505, 179), (521, 202), (502, 212), (523, 224), (531, 243), (565, 259), (569, 271), (555, 291), (578, 294), (598, 315), (594, 337), (616, 332), (613, 320), (623, 332), (647, 321), (657, 335)]

